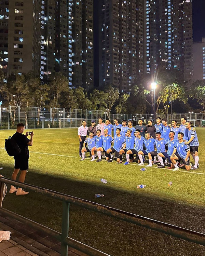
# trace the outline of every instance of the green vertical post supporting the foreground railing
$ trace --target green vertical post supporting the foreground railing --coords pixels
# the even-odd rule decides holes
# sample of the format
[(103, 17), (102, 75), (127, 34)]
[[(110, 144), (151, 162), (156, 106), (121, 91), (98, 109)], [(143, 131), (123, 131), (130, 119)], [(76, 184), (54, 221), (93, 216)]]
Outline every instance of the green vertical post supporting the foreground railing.
[(62, 215), (62, 234), (61, 234), (61, 256), (68, 255), (68, 245), (64, 243), (64, 240), (68, 237), (69, 231), (69, 209), (70, 204), (63, 201), (63, 215)]

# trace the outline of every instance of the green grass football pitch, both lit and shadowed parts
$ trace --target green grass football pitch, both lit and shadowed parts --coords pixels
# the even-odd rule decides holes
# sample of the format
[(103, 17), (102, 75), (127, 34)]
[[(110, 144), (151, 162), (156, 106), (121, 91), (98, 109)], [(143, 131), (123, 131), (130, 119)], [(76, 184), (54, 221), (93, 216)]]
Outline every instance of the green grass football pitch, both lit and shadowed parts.
[[(183, 228), (205, 233), (205, 139), (200, 139), (197, 170), (124, 166), (115, 161), (79, 161), (77, 129), (34, 130), (29, 147), (26, 183), (108, 205)], [(11, 178), (14, 159), (4, 151), (4, 139), (14, 130), (0, 131), (1, 174)], [(88, 154), (87, 154), (88, 157)], [(191, 158), (193, 163), (193, 159)], [(108, 180), (107, 184), (100, 179)], [(168, 187), (169, 181), (173, 185)], [(136, 189), (138, 184), (146, 188)], [(105, 194), (95, 198), (96, 193)], [(61, 230), (61, 202), (30, 192), (16, 197), (7, 193), (3, 207), (57, 231)], [(115, 256), (205, 255), (205, 247), (71, 206), (69, 236)]]

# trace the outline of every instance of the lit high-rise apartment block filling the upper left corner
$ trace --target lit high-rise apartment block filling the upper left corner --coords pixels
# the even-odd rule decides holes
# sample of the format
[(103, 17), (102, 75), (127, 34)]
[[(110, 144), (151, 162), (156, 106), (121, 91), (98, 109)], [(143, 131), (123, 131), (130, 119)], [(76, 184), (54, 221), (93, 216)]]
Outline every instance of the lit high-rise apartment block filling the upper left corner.
[(0, 1), (0, 69), (93, 88), (93, 0)]

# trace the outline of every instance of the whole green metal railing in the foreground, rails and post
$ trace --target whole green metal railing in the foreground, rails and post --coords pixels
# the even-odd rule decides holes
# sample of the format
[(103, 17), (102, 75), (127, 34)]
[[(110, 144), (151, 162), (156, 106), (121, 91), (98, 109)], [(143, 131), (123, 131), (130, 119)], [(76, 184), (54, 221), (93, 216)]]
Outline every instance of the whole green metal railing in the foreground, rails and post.
[(24, 223), (28, 224), (29, 226), (36, 228), (40, 231), (43, 231), (49, 235), (52, 235), (54, 238), (58, 239), (61, 242), (61, 256), (66, 256), (68, 253), (68, 245), (91, 256), (101, 256), (101, 255), (108, 255), (106, 253), (100, 252), (88, 245), (85, 245), (83, 243), (80, 243), (76, 240), (71, 239), (68, 236), (69, 233), (69, 207), (70, 203), (83, 207), (85, 209), (95, 211), (101, 214), (105, 214), (120, 220), (127, 221), (128, 223), (133, 223), (138, 226), (146, 227), (152, 230), (159, 231), (161, 233), (165, 233), (168, 235), (172, 235), (177, 238), (181, 238), (196, 244), (205, 245), (205, 234), (199, 233), (193, 230), (188, 230), (185, 228), (177, 227), (174, 225), (170, 225), (167, 223), (163, 223), (158, 220), (146, 218), (143, 216), (139, 216), (136, 214), (124, 212), (109, 206), (97, 204), (94, 202), (90, 202), (84, 199), (80, 199), (77, 197), (68, 196), (63, 193), (55, 192), (49, 189), (29, 185), (26, 183), (20, 183), (13, 181), (8, 178), (0, 178), (0, 182), (14, 185), (17, 187), (21, 187), (27, 190), (31, 190), (34, 192), (37, 192), (39, 194), (43, 194), (47, 197), (51, 197), (54, 199), (58, 199), (63, 202), (63, 215), (62, 215), (62, 229), (61, 233), (54, 231), (50, 228), (47, 228), (41, 224), (38, 224), (34, 221), (31, 221), (29, 219), (26, 219), (25, 217), (22, 217), (20, 215), (17, 215), (15, 213), (12, 213), (6, 209), (0, 208), (0, 212), (6, 213), (8, 216), (13, 217), (19, 221), (24, 221)]

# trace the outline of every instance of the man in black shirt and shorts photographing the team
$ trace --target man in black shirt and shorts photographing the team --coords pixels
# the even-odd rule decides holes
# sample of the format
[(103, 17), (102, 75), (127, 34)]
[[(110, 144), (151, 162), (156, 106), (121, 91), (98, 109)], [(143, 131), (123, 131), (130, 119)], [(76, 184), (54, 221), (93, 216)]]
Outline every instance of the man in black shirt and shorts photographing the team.
[[(17, 124), (17, 130), (16, 133), (12, 136), (13, 139), (15, 139), (17, 145), (21, 149), (20, 154), (17, 156), (14, 156), (15, 164), (14, 164), (14, 172), (12, 174), (12, 180), (16, 180), (16, 177), (20, 172), (19, 181), (24, 182), (26, 178), (26, 173), (28, 170), (28, 159), (29, 159), (29, 150), (28, 146), (33, 145), (33, 132), (26, 132), (26, 135), (23, 134), (25, 130), (25, 125), (23, 123)], [(27, 138), (27, 136), (30, 135), (30, 140)], [(16, 192), (16, 196), (26, 195), (28, 192), (22, 190), (22, 188), (15, 188), (11, 185), (11, 189), (9, 193)]]

